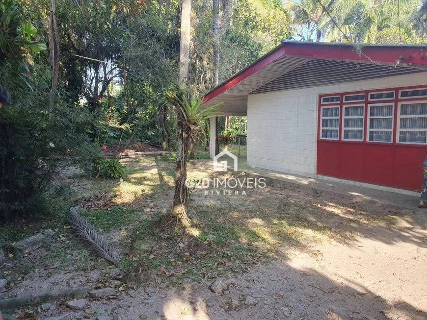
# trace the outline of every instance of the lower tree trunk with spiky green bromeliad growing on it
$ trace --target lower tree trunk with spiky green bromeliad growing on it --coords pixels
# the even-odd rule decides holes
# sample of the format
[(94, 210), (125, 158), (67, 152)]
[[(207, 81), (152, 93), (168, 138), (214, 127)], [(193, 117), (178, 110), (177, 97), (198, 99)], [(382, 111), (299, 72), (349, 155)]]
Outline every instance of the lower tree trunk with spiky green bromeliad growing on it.
[(205, 128), (209, 127), (208, 119), (218, 114), (215, 108), (222, 103), (201, 110), (202, 99), (182, 88), (165, 89), (163, 95), (165, 101), (174, 106), (177, 117), (175, 195), (171, 213), (160, 219), (160, 225), (166, 231), (171, 231), (175, 227), (187, 227), (191, 224), (187, 215), (187, 200), (190, 196), (190, 189), (186, 186), (188, 145), (207, 134)]

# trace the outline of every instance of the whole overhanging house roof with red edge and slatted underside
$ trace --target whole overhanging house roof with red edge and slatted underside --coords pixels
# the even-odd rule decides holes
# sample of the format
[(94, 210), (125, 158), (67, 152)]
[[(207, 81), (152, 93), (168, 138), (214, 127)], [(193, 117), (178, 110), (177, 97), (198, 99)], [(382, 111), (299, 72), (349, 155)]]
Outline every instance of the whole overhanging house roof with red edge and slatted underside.
[(204, 96), (224, 115), (245, 116), (250, 94), (427, 71), (427, 46), (284, 41)]

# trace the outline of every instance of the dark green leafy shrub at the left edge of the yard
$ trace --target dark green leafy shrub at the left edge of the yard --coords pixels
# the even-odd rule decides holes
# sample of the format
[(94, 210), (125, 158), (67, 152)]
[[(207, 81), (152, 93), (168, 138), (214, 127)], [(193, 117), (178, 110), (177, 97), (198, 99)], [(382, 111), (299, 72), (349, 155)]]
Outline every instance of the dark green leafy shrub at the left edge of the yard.
[[(38, 98), (43, 103), (43, 96)], [(80, 138), (78, 123), (67, 116), (72, 107), (57, 102), (51, 118), (35, 103), (0, 109), (0, 221), (46, 213), (46, 191), (62, 165), (59, 157)]]

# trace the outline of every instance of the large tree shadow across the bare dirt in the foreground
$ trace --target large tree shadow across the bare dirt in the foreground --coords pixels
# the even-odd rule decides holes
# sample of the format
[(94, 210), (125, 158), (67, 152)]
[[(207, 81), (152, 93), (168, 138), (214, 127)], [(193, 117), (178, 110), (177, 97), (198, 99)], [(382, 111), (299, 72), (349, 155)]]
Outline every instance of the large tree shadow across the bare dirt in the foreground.
[[(309, 274), (308, 276), (303, 276)], [(306, 320), (398, 320), (426, 319), (420, 310), (404, 300), (389, 301), (360, 284), (343, 285), (310, 269), (295, 269), (284, 262), (235, 274), (226, 281), (222, 295), (205, 283), (185, 284), (179, 290), (145, 287), (122, 297), (121, 319), (306, 319)], [(208, 283), (209, 284), (209, 283)], [(166, 296), (165, 296), (166, 295)], [(251, 295), (252, 303), (245, 305)], [(137, 296), (137, 297), (136, 297)], [(116, 318), (117, 319), (117, 318)]]

